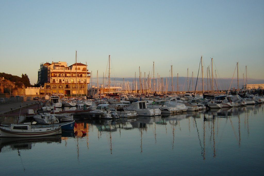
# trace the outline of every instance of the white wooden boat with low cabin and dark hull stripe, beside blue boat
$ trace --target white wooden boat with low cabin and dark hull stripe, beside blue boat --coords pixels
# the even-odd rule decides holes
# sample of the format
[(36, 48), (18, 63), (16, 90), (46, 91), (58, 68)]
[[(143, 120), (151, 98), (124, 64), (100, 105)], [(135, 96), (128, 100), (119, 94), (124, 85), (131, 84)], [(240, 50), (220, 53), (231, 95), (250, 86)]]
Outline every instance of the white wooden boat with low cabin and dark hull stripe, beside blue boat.
[(60, 126), (33, 128), (31, 123), (11, 124), (0, 126), (0, 137), (38, 137), (62, 134)]

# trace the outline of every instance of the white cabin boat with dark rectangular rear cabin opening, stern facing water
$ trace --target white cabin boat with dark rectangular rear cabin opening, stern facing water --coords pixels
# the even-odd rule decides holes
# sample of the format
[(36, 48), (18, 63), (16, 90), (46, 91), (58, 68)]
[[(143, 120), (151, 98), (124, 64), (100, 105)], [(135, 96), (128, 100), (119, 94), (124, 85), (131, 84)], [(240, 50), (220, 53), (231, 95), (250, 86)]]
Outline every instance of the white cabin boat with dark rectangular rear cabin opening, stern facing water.
[(134, 110), (139, 116), (160, 116), (161, 110), (159, 108), (147, 108), (147, 101), (137, 101), (131, 103), (130, 107), (125, 108), (126, 110)]

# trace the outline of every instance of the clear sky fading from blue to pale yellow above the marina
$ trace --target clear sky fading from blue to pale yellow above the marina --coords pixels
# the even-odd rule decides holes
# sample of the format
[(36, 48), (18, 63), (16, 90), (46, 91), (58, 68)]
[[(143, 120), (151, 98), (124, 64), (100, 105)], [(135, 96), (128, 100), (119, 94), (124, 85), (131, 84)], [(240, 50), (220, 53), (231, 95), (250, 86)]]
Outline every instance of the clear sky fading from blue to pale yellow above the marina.
[[(264, 75), (264, 1), (3, 1), (0, 72), (37, 82), (41, 62), (88, 63), (103, 75), (111, 55), (115, 77), (138, 68), (169, 76), (197, 74), (214, 58), (218, 77), (236, 62), (251, 78)], [(93, 74), (95, 75), (95, 74)], [(99, 75), (99, 76), (100, 76)]]

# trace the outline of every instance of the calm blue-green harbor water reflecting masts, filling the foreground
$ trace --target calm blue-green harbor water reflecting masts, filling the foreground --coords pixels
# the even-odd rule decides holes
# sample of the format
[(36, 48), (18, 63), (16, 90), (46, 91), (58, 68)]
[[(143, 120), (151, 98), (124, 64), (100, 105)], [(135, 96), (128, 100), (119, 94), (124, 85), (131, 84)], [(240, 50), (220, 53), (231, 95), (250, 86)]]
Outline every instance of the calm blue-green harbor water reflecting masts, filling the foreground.
[(1, 175), (263, 174), (263, 108), (78, 121), (62, 136), (1, 138)]

